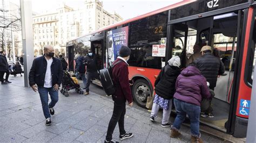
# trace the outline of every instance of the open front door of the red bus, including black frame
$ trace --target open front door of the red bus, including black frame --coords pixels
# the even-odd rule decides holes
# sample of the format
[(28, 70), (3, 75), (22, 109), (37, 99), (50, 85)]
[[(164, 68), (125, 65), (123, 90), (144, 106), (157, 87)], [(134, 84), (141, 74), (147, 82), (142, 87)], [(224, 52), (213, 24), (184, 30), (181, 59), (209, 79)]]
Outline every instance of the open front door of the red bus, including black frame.
[[(227, 15), (228, 14), (228, 15)], [(219, 75), (215, 87), (215, 97), (212, 99), (213, 118), (200, 117), (202, 125), (211, 126), (217, 130), (233, 134), (237, 138), (246, 137), (247, 124), (244, 120), (237, 119), (238, 85), (241, 73), (239, 61), (242, 61), (242, 50), (240, 46), (242, 24), (245, 24), (246, 10), (232, 11), (204, 18), (179, 19), (169, 21), (169, 45), (167, 46), (167, 59), (177, 55), (177, 46), (181, 47), (181, 53), (185, 51), (187, 58), (193, 53), (193, 46), (203, 47), (209, 45), (212, 51), (220, 52), (218, 58), (227, 58), (225, 74)], [(226, 45), (225, 49), (223, 47)], [(227, 53), (229, 54), (227, 55)], [(180, 56), (180, 58), (183, 58)], [(232, 84), (234, 83), (234, 84)], [(245, 119), (246, 120), (246, 119)], [(240, 121), (241, 124), (238, 124)]]

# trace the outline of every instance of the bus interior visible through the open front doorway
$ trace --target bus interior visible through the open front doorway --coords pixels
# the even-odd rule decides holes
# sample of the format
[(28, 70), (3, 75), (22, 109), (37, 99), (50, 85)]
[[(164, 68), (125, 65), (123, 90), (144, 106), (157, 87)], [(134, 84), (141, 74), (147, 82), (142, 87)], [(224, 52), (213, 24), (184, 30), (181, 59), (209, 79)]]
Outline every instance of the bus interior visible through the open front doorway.
[(214, 17), (200, 18), (187, 22), (173, 24), (172, 56), (181, 59), (181, 68), (185, 68), (186, 60), (193, 54), (195, 44), (203, 47), (213, 47), (213, 54), (221, 59), (225, 65), (225, 73), (219, 75), (212, 99), (213, 118), (200, 117), (203, 124), (226, 131), (225, 123), (230, 112), (231, 88), (233, 83), (235, 54), (237, 44), (236, 27), (237, 12), (226, 13)]

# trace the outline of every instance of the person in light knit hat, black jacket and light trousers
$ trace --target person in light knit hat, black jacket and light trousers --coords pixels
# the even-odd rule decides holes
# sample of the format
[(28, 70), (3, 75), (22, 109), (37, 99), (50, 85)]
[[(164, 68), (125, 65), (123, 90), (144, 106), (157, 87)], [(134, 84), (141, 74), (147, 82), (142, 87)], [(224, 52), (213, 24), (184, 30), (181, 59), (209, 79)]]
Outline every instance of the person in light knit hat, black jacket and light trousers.
[(171, 126), (168, 122), (172, 110), (172, 98), (176, 91), (176, 79), (180, 74), (179, 66), (179, 56), (173, 56), (168, 64), (161, 69), (156, 82), (154, 82), (156, 96), (154, 96), (150, 120), (154, 122), (160, 107), (163, 108), (162, 127)]

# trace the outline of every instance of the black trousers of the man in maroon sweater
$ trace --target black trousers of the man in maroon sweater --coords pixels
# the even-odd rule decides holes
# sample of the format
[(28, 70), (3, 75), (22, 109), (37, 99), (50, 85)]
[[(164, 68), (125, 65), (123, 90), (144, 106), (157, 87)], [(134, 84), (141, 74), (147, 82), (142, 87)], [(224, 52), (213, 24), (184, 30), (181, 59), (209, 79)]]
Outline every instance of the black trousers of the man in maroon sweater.
[(114, 101), (113, 114), (109, 121), (109, 127), (107, 128), (107, 135), (106, 135), (107, 141), (112, 140), (112, 134), (114, 132), (114, 128), (117, 125), (117, 122), (118, 122), (118, 126), (119, 126), (120, 135), (125, 134), (125, 130), (124, 130), (124, 116), (125, 116), (125, 111), (126, 111), (125, 102), (126, 101), (124, 101), (124, 100), (120, 101), (118, 99), (116, 99), (116, 101)]

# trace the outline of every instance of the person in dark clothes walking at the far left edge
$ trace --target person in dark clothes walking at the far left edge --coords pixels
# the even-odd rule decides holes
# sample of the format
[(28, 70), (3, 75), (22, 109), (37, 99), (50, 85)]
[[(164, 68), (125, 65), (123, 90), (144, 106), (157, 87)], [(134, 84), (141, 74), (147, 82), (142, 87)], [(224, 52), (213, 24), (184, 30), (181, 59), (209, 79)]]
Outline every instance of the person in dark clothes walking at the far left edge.
[[(6, 73), (5, 75), (5, 80), (4, 80), (4, 73)], [(6, 59), (6, 52), (2, 51), (0, 53), (0, 79), (1, 79), (1, 84), (7, 84), (7, 83), (11, 83), (10, 81), (8, 81), (10, 75), (10, 71), (9, 71), (9, 65)]]

